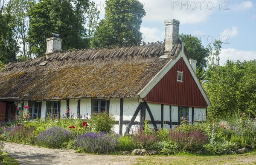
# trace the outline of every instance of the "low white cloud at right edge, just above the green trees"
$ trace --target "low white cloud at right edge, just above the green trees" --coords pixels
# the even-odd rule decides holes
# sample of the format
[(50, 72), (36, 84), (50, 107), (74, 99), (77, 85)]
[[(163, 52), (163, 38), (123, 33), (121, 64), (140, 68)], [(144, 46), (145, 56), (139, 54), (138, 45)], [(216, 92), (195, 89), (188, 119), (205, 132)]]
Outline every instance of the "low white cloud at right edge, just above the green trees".
[(233, 62), (236, 62), (237, 60), (240, 60), (240, 62), (244, 60), (254, 60), (256, 59), (256, 51), (244, 51), (233, 48), (222, 49), (220, 54), (220, 64), (223, 65), (226, 63), (227, 59)]

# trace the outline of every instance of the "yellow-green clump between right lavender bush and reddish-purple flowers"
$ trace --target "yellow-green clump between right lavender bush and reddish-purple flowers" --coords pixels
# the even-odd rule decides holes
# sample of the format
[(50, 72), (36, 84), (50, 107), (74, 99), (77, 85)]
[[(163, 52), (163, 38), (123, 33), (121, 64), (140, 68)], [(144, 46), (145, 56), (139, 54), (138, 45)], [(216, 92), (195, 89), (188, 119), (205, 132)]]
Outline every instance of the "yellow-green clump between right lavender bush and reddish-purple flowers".
[(119, 136), (117, 138), (117, 151), (133, 151), (135, 149), (135, 145), (130, 136)]

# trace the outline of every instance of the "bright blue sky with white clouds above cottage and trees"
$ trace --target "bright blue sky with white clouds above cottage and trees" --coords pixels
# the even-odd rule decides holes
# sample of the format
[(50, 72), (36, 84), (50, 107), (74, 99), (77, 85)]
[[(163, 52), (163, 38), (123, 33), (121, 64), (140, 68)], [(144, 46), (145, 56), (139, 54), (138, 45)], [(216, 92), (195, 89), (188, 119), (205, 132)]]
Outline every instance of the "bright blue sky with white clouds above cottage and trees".
[[(105, 1), (92, 0), (104, 19)], [(144, 42), (165, 39), (164, 21), (180, 21), (179, 33), (201, 39), (204, 47), (221, 40), (220, 64), (227, 59), (256, 59), (256, 0), (139, 0), (146, 12), (140, 31)], [(186, 46), (186, 45), (185, 45)]]

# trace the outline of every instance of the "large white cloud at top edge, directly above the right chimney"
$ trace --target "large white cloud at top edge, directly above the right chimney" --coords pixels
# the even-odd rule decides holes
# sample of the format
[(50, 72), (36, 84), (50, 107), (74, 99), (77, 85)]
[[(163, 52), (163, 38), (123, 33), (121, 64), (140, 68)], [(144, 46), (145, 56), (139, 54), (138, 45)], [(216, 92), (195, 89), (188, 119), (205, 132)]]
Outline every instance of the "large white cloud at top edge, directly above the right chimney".
[(176, 0), (145, 0), (146, 16), (143, 21), (164, 22), (174, 18), (180, 24), (198, 24), (207, 22), (210, 15), (218, 9), (218, 1), (176, 1)]

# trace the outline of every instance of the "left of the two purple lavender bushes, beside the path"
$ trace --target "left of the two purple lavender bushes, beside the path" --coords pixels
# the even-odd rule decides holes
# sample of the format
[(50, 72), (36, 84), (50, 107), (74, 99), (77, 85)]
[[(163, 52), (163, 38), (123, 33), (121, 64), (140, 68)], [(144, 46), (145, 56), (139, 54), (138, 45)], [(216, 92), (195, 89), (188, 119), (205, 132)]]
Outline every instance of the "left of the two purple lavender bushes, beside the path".
[(43, 131), (35, 139), (35, 144), (48, 148), (62, 148), (63, 143), (71, 140), (72, 134), (67, 129), (52, 127)]

